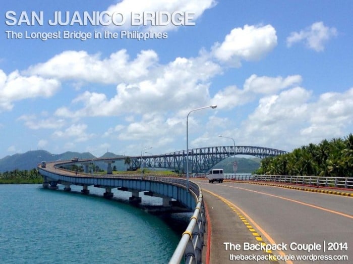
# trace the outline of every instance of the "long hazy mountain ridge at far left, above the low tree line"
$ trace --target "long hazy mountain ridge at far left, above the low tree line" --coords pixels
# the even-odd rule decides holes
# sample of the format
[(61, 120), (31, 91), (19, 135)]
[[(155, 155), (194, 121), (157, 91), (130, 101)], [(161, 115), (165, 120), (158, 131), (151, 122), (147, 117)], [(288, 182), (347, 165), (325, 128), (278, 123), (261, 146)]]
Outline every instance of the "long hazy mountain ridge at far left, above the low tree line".
[(31, 170), (42, 161), (53, 162), (57, 160), (71, 160), (73, 157), (79, 159), (93, 159), (95, 156), (89, 152), (79, 153), (67, 151), (62, 154), (51, 154), (46, 150), (31, 150), (21, 154), (14, 154), (0, 159), (0, 172), (13, 170)]

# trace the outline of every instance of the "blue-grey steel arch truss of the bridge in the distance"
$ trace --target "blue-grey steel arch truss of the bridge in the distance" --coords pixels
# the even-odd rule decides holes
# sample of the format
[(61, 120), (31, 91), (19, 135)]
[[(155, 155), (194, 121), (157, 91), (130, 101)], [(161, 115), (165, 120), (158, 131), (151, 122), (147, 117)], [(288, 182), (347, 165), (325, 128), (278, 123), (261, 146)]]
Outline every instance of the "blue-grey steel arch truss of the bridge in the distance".
[[(189, 149), (189, 172), (205, 173), (220, 161), (232, 155), (252, 155), (263, 159), (286, 151), (256, 146), (216, 146)], [(131, 157), (131, 168), (166, 168), (186, 171), (186, 150), (162, 155)]]

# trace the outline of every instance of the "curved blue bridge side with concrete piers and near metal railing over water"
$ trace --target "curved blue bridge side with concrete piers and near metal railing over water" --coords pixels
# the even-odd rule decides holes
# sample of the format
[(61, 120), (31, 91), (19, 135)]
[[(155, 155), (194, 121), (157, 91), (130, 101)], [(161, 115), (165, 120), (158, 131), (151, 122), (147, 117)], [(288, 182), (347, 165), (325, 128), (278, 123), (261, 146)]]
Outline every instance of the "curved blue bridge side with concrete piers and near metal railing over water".
[(186, 263), (202, 263), (206, 216), (202, 190), (198, 184), (187, 184), (187, 180), (180, 177), (78, 174), (60, 168), (64, 164), (72, 164), (72, 161), (51, 162), (45, 167), (38, 165), (44, 188), (57, 189), (57, 184), (62, 184), (65, 191), (71, 191), (71, 185), (79, 185), (82, 186), (81, 193), (89, 194), (88, 187), (94, 186), (105, 188), (105, 198), (112, 198), (112, 189), (117, 188), (130, 191), (132, 196), (129, 201), (135, 204), (141, 202), (139, 193), (144, 192), (145, 195), (162, 198), (162, 206), (166, 209), (169, 207), (172, 210), (172, 199), (175, 199), (193, 210), (189, 225), (169, 263), (180, 263), (183, 259)]

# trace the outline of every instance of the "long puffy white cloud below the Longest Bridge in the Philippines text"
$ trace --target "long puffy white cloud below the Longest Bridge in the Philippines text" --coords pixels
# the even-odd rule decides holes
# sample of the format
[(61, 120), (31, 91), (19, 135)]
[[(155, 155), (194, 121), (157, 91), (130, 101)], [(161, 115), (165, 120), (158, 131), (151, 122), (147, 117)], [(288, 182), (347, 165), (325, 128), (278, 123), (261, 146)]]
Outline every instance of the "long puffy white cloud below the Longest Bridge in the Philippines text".
[(146, 77), (157, 61), (158, 56), (153, 50), (142, 50), (132, 61), (126, 49), (104, 59), (99, 54), (90, 55), (83, 50), (67, 50), (45, 63), (31, 66), (25, 73), (62, 80), (111, 84)]

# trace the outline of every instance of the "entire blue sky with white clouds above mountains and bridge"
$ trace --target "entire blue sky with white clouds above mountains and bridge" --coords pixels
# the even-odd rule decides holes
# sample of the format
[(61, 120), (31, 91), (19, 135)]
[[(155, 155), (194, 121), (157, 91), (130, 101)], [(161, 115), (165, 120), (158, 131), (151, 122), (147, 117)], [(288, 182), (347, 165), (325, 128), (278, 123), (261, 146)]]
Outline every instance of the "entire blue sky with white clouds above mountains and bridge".
[(0, 10), (0, 158), (184, 150), (188, 114), (214, 104), (190, 113), (189, 148), (234, 139), (291, 151), (353, 130), (350, 0), (19, 0)]

